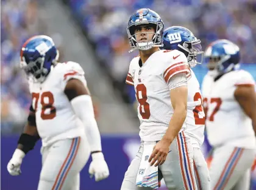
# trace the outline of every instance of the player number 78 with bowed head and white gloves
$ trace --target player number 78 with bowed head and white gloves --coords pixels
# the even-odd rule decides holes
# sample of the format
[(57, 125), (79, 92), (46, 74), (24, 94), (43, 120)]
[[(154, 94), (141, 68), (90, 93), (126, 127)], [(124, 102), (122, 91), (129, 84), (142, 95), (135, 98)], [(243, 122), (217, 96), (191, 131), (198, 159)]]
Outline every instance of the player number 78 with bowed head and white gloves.
[(95, 180), (109, 175), (84, 70), (72, 61), (58, 63), (58, 57), (54, 42), (44, 35), (28, 39), (20, 52), (32, 104), (7, 170), (20, 175), (23, 158), (41, 138), (38, 190), (78, 190), (79, 174), (90, 154), (89, 173)]

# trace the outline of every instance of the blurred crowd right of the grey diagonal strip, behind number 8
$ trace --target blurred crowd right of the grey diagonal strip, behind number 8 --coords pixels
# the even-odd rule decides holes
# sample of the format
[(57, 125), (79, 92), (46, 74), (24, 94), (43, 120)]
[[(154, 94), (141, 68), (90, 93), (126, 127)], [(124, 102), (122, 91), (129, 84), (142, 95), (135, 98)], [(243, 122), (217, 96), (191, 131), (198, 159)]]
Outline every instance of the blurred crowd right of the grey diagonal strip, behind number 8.
[(131, 58), (126, 27), (131, 13), (147, 7), (165, 22), (182, 25), (201, 39), (205, 49), (219, 38), (230, 39), (241, 48), (241, 62), (256, 60), (256, 1), (254, 0), (66, 0), (93, 42), (96, 55), (109, 69), (114, 85), (133, 102), (133, 87), (124, 84)]

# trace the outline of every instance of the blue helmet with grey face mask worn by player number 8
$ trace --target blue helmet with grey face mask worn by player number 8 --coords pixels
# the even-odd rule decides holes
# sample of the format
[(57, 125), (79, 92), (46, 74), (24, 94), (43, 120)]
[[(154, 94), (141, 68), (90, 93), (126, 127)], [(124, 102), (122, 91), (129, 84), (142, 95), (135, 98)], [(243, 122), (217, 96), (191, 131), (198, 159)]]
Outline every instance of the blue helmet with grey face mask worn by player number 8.
[[(141, 24), (151, 24), (154, 29), (154, 36), (151, 41), (148, 42), (137, 42), (135, 36), (135, 28), (137, 25)], [(132, 50), (149, 50), (152, 47), (162, 47), (163, 46), (163, 27), (164, 23), (160, 16), (149, 8), (141, 8), (137, 10), (132, 16), (130, 16), (128, 26), (127, 26), (127, 34), (129, 37), (130, 47)], [(144, 33), (144, 32), (143, 32)], [(137, 35), (140, 33), (137, 33)]]

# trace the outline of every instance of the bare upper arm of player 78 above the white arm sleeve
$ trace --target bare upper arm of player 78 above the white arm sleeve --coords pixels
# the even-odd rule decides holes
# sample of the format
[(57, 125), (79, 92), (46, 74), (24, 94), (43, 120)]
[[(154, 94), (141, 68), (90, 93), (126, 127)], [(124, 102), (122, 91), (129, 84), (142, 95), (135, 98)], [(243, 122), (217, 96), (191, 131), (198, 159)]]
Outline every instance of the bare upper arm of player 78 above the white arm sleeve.
[(90, 95), (88, 89), (84, 86), (84, 83), (76, 78), (71, 78), (71, 80), (66, 83), (64, 93), (69, 101), (80, 95)]

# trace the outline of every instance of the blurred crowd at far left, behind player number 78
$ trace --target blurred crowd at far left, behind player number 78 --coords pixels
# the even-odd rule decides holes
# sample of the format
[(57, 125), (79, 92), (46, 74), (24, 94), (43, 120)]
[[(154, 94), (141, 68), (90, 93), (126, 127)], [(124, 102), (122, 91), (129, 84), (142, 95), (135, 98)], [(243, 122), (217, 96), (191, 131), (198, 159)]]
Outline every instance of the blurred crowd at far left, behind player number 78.
[[(40, 0), (1, 1), (1, 132), (20, 132), (26, 121), (30, 95), (26, 77), (19, 70), (20, 49), (34, 35), (50, 35), (40, 13)], [(62, 39), (52, 35), (62, 51)], [(61, 57), (60, 57), (61, 58)]]

